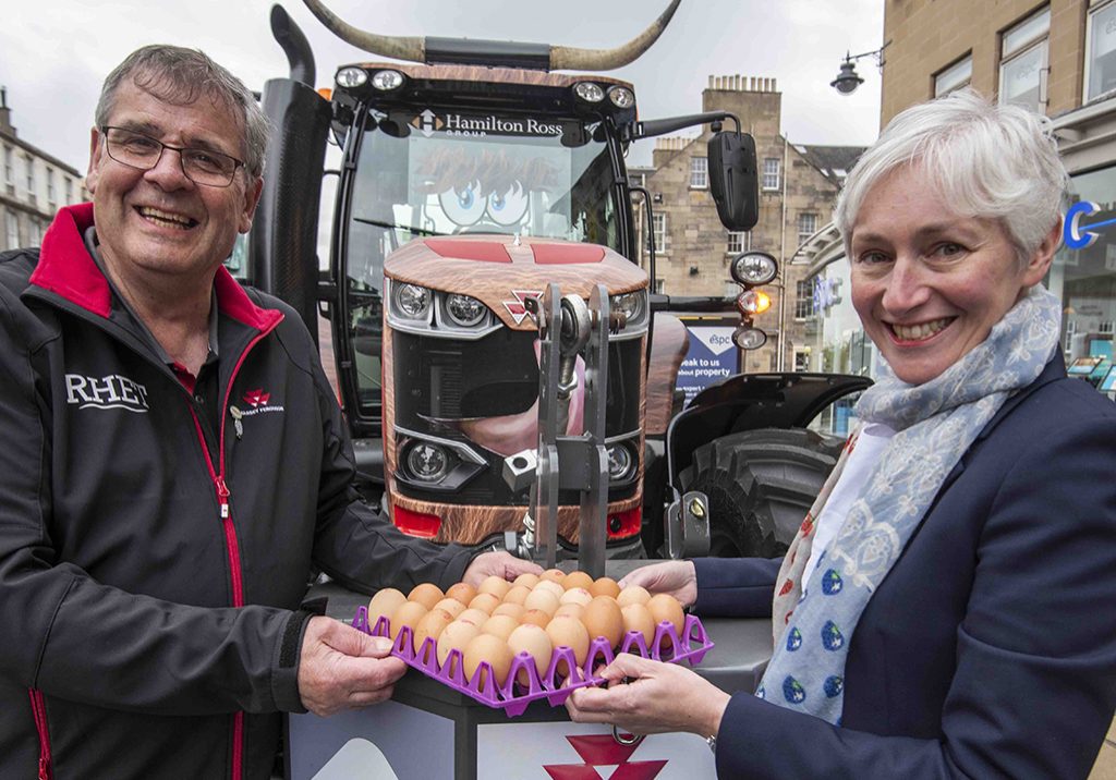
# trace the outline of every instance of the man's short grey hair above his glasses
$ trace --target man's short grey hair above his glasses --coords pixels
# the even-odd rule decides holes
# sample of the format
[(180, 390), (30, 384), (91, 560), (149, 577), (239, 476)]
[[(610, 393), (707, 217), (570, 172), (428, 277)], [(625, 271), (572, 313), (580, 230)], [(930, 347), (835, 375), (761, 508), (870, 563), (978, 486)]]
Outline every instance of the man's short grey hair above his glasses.
[(137, 88), (176, 106), (194, 103), (202, 95), (224, 103), (243, 122), (242, 154), (248, 174), (258, 179), (263, 173), (270, 123), (243, 81), (204, 52), (162, 44), (133, 51), (105, 79), (97, 100), (98, 128), (109, 123), (116, 90), (126, 78)]

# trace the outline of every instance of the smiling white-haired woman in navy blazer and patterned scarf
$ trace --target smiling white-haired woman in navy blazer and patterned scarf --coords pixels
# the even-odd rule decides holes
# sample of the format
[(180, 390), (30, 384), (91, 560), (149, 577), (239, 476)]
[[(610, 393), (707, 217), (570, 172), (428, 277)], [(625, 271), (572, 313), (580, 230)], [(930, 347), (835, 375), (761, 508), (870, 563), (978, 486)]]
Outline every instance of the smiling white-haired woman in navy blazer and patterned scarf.
[(1116, 707), (1116, 406), (1066, 377), (1040, 283), (1066, 183), (1035, 114), (964, 92), (895, 117), (836, 214), (885, 372), (786, 558), (624, 582), (771, 615), (759, 690), (620, 656), (574, 720), (715, 735), (727, 778), (1088, 774)]

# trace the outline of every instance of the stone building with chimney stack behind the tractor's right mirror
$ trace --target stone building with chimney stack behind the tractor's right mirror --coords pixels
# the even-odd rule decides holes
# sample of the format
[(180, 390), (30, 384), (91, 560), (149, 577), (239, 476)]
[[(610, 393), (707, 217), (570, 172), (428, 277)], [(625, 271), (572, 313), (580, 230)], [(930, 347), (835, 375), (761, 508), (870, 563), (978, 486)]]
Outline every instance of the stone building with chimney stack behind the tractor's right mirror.
[[(756, 139), (760, 175), (759, 222), (745, 233), (721, 224), (709, 193), (704, 133), (696, 138), (660, 138), (652, 170), (637, 173), (652, 193), (655, 287), (671, 296), (735, 296), (729, 261), (742, 251), (768, 252), (779, 261), (779, 278), (764, 290), (771, 308), (756, 318), (768, 334), (762, 348), (748, 353), (749, 373), (805, 368), (802, 348), (811, 293), (805, 268), (789, 260), (798, 247), (833, 216), (845, 172), (863, 151), (847, 146), (793, 144), (781, 133), (782, 94), (773, 78), (710, 76), (702, 112), (725, 110), (740, 117)], [(731, 129), (731, 121), (725, 122)]]

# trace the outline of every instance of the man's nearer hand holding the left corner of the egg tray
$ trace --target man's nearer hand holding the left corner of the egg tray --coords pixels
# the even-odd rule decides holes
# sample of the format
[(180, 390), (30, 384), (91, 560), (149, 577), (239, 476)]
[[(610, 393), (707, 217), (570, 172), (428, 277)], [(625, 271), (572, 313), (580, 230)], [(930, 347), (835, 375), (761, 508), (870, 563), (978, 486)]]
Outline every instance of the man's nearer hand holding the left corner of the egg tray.
[(331, 617), (311, 617), (302, 635), (298, 693), (316, 715), (367, 706), (392, 697), (393, 685), (407, 671), (388, 655), (387, 637), (368, 636)]

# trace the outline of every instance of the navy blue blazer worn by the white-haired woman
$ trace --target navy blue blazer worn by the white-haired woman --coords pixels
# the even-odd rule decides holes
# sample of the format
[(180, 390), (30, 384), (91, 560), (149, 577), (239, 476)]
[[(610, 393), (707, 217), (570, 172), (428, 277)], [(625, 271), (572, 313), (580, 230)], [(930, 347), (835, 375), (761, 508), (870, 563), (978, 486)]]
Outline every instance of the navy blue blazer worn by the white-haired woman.
[[(701, 559), (702, 615), (779, 560)], [(1085, 778), (1116, 707), (1116, 404), (1056, 356), (950, 473), (868, 601), (843, 728), (733, 695), (721, 778)]]

